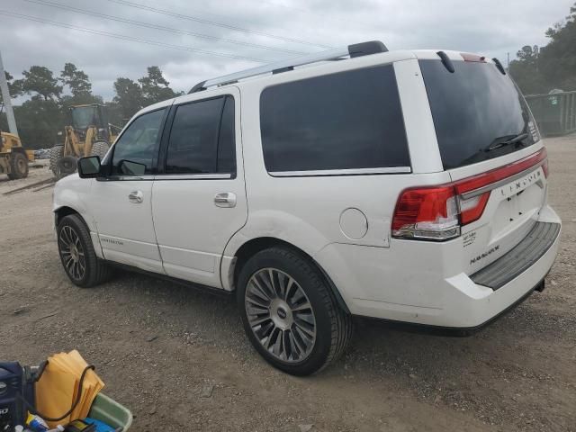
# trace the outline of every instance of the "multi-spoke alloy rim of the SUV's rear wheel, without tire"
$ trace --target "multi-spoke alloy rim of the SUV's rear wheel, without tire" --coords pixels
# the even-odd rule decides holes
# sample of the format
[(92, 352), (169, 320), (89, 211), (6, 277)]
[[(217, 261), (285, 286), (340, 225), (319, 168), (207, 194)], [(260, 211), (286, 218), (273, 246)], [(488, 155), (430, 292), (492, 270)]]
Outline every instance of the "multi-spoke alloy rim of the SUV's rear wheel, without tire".
[(250, 328), (268, 353), (287, 363), (310, 356), (316, 318), (293, 277), (275, 268), (258, 270), (248, 280), (244, 304)]

